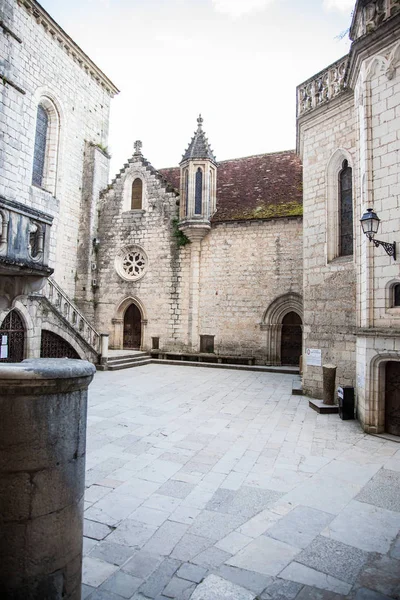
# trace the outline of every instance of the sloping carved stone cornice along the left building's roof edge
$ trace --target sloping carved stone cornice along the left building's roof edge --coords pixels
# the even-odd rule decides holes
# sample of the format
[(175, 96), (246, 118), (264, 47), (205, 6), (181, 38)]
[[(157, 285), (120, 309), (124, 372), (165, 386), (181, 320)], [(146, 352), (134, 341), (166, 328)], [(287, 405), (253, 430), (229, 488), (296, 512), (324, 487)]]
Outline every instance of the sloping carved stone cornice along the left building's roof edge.
[(17, 0), (36, 21), (42, 25), (49, 36), (58, 42), (64, 52), (78, 63), (94, 81), (98, 83), (111, 97), (119, 93), (112, 81), (95, 65), (67, 33), (52, 19), (36, 0)]

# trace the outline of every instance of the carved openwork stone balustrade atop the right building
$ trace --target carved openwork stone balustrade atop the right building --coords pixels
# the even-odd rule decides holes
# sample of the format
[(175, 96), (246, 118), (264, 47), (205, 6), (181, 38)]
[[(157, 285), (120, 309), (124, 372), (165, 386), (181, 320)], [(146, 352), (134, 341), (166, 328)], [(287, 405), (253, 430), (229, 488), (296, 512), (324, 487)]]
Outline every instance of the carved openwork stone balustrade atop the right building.
[(346, 89), (348, 64), (347, 55), (297, 87), (297, 117), (329, 102)]

